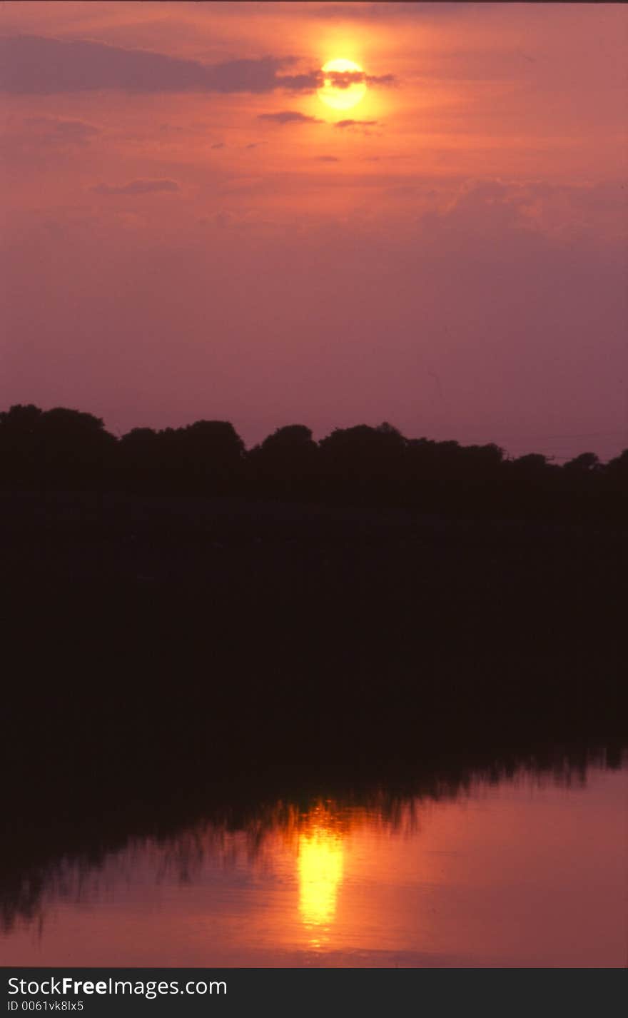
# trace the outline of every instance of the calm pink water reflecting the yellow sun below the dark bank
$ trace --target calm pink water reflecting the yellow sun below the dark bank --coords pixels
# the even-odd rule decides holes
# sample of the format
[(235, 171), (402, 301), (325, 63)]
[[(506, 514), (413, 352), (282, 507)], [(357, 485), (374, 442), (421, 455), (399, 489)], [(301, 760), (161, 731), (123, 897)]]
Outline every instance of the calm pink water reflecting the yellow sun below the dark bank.
[(4, 965), (625, 966), (628, 760), (280, 801), (19, 880)]

